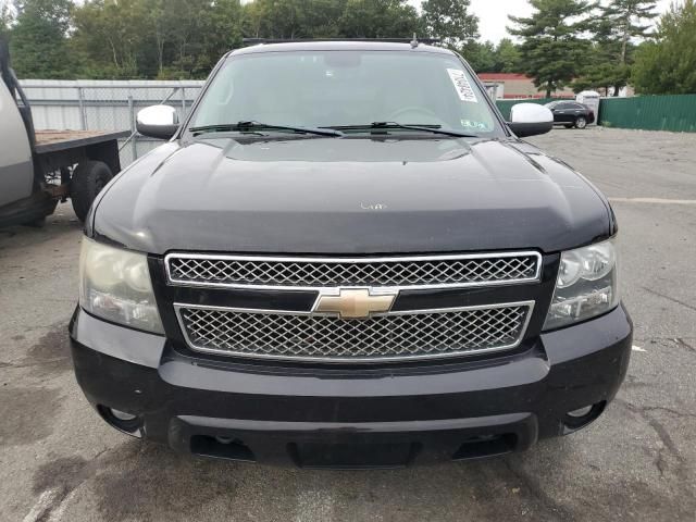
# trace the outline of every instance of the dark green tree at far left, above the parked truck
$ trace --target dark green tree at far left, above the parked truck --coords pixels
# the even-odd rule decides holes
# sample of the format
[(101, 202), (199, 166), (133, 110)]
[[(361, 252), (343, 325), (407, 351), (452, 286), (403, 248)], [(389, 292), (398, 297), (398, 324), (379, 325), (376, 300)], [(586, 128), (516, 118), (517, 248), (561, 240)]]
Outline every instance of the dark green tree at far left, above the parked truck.
[(15, 2), (15, 24), (10, 29), (10, 50), (17, 76), (69, 78), (75, 63), (67, 51), (70, 0)]

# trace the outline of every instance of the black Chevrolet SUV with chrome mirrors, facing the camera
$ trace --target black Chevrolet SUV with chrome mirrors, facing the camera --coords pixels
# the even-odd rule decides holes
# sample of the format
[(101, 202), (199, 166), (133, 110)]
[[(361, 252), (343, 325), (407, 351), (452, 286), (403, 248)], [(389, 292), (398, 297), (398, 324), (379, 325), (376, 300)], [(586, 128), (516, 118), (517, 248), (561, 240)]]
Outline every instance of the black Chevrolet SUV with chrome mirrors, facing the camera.
[[(467, 63), (399, 42), (226, 54), (86, 222), (79, 385), (132, 435), (300, 467), (529, 448), (629, 364), (617, 223)], [(514, 134), (513, 134), (514, 133)]]

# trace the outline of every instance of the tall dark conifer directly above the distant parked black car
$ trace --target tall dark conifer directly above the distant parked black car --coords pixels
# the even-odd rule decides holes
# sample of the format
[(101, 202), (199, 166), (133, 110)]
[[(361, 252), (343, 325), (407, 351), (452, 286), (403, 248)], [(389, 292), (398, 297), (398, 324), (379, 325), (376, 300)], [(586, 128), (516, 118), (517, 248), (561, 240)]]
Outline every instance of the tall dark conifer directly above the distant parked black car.
[(544, 87), (546, 97), (563, 88), (579, 76), (586, 59), (587, 13), (592, 4), (585, 0), (530, 0), (534, 12), (530, 17), (509, 16), (514, 24), (511, 35), (523, 38), (520, 46), (522, 71)]

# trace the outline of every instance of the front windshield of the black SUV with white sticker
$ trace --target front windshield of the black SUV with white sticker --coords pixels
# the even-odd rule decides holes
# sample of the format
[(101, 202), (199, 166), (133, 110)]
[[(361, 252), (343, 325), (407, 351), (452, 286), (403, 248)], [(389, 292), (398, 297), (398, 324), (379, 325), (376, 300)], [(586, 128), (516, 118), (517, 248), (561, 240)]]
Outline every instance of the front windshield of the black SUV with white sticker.
[[(262, 122), (364, 132), (375, 122), (389, 122), (499, 136), (485, 96), (449, 54), (260, 52), (233, 57), (222, 66), (189, 126)], [(414, 130), (388, 127), (393, 132)]]

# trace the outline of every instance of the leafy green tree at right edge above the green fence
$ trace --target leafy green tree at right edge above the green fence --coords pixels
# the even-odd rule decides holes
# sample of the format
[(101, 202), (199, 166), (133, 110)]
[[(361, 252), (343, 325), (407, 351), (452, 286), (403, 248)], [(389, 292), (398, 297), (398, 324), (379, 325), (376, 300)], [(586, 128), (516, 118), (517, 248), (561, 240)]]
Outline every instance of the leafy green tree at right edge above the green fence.
[(636, 91), (696, 92), (696, 2), (673, 3), (658, 24), (655, 41), (641, 45), (633, 66)]

